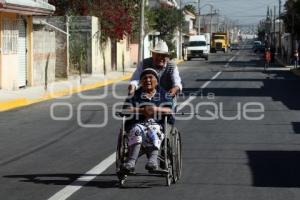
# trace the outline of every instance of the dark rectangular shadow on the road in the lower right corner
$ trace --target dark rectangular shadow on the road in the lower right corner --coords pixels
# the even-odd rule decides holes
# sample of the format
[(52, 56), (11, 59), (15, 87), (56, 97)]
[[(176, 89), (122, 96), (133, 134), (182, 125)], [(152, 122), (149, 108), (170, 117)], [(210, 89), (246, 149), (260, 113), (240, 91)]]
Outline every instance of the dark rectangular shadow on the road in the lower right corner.
[(300, 187), (300, 151), (247, 151), (255, 187)]

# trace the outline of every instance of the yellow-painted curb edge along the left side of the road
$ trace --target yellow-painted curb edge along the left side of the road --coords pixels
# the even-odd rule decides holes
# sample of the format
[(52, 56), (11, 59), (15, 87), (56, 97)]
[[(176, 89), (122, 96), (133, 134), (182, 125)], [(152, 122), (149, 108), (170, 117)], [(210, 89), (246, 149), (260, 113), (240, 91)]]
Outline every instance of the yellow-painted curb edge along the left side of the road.
[(91, 84), (80, 85), (77, 87), (72, 87), (70, 89), (61, 89), (54, 92), (46, 92), (40, 98), (36, 99), (28, 99), (28, 98), (16, 98), (8, 101), (0, 101), (0, 112), (12, 110), (19, 107), (29, 106), (35, 103), (47, 101), (50, 99), (55, 99), (61, 96), (71, 95), (75, 93), (79, 93), (82, 91), (92, 90), (95, 88), (111, 85), (120, 81), (125, 81), (131, 78), (132, 73), (123, 75), (121, 77), (109, 80), (103, 80)]

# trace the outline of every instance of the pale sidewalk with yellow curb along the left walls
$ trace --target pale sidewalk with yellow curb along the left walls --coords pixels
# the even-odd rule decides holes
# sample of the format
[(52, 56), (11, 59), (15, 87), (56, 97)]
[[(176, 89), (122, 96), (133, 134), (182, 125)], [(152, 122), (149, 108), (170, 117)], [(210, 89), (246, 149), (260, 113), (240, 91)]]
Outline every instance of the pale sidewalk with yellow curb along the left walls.
[(70, 77), (68, 80), (49, 84), (46, 90), (44, 86), (27, 87), (16, 91), (0, 90), (0, 112), (128, 80), (135, 68), (126, 70), (125, 74), (110, 72), (107, 76), (84, 75), (81, 84), (78, 76)]

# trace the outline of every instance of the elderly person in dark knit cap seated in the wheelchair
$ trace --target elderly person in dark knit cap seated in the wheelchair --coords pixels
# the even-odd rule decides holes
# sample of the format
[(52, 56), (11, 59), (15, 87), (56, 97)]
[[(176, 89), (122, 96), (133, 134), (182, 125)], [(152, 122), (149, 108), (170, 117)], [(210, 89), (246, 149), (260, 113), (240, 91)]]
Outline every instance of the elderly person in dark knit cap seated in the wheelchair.
[[(139, 113), (138, 119), (132, 119), (127, 125), (129, 155), (121, 170), (125, 173), (133, 172), (140, 150), (143, 148), (148, 161), (145, 168), (149, 171), (158, 169), (158, 156), (164, 139), (162, 120), (156, 115), (172, 112), (173, 99), (158, 85), (159, 76), (156, 70), (146, 68), (140, 76), (141, 87), (129, 97), (124, 109)], [(170, 118), (170, 123), (173, 119)]]

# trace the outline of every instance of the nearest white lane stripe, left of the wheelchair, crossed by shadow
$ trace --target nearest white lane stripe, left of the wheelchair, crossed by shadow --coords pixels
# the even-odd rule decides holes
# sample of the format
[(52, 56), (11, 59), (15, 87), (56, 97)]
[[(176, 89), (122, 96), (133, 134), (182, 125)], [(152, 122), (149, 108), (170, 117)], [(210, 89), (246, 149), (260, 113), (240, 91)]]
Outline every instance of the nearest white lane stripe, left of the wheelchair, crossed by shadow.
[(116, 160), (116, 152), (108, 156), (105, 160), (100, 162), (97, 166), (86, 172), (84, 175), (76, 179), (70, 185), (64, 187), (62, 190), (58, 191), (48, 200), (65, 200), (69, 198), (72, 194), (77, 192), (82, 188), (82, 186), (86, 185), (88, 182), (92, 181), (97, 175), (104, 172), (107, 168), (109, 168)]

